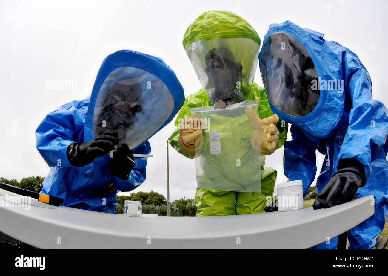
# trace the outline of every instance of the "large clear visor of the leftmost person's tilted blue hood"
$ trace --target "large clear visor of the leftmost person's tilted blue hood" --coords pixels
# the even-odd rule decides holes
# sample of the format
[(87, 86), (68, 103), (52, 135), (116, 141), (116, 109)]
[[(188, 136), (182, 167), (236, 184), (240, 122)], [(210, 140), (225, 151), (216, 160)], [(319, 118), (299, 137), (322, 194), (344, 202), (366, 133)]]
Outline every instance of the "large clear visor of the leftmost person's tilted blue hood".
[(118, 133), (121, 143), (135, 148), (158, 131), (174, 108), (171, 92), (155, 75), (126, 66), (104, 80), (94, 106), (94, 137)]

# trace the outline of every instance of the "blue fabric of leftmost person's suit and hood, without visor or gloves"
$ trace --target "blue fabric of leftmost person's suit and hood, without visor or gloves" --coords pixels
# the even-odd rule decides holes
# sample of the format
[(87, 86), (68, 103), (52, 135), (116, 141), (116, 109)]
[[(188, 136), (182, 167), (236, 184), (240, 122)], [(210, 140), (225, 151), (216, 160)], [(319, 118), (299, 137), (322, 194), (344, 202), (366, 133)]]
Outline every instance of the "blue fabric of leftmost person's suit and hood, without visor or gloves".
[[(42, 194), (63, 198), (64, 206), (116, 213), (117, 191), (128, 192), (144, 182), (146, 157), (136, 158), (129, 179), (121, 180), (109, 174), (109, 155), (98, 157), (83, 168), (71, 166), (66, 155), (71, 143), (94, 139), (91, 115), (94, 113), (94, 100), (100, 85), (109, 72), (128, 65), (137, 66), (156, 75), (169, 87), (174, 98), (174, 110), (163, 126), (178, 112), (184, 102), (184, 92), (171, 68), (161, 59), (129, 50), (109, 55), (102, 62), (92, 95), (82, 101), (66, 103), (50, 112), (36, 129), (36, 148), (51, 167), (43, 181)], [(89, 134), (84, 135), (86, 132)], [(134, 148), (133, 152), (149, 154), (151, 146), (148, 141), (144, 141)]]

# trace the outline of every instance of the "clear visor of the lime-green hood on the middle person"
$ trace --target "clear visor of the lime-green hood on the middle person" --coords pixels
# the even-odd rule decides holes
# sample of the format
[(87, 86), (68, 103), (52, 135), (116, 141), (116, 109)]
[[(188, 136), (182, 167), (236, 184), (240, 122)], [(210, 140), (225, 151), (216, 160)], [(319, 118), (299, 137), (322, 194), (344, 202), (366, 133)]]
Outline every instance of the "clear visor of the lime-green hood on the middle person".
[(249, 38), (201, 40), (187, 49), (187, 56), (208, 93), (211, 103), (234, 98), (245, 101), (257, 67), (260, 45)]

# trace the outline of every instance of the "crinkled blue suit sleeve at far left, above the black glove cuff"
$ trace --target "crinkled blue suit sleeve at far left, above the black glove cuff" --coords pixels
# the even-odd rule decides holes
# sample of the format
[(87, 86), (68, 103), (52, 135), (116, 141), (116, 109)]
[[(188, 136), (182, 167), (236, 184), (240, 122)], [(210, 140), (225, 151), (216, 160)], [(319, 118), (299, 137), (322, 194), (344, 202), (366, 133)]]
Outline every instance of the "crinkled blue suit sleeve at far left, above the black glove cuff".
[(50, 112), (35, 131), (36, 148), (50, 167), (71, 167), (66, 154), (85, 125), (84, 106), (73, 102)]

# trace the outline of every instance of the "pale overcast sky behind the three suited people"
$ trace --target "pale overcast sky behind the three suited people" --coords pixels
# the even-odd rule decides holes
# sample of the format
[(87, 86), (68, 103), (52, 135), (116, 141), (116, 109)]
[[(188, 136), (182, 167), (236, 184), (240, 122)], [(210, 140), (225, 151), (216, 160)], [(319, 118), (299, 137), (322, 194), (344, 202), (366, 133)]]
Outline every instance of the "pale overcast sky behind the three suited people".
[[(182, 46), (183, 34), (202, 12), (230, 10), (264, 38), (271, 23), (293, 21), (325, 34), (355, 52), (371, 74), (373, 95), (388, 106), (386, 1), (2, 1), (0, 7), (0, 176), (46, 176), (49, 167), (36, 150), (35, 129), (50, 111), (92, 91), (102, 60), (131, 49), (159, 56), (175, 71), (185, 96), (201, 84)], [(50, 80), (71, 80), (73, 89), (50, 90)], [(258, 71), (255, 82), (262, 85)], [(166, 138), (173, 122), (149, 141), (147, 180), (134, 192), (166, 196)], [(290, 135), (289, 138), (290, 139)], [(266, 166), (283, 173), (283, 148)], [(318, 168), (324, 156), (317, 154)], [(170, 147), (170, 199), (194, 198), (195, 162)], [(129, 193), (121, 193), (129, 194)]]

